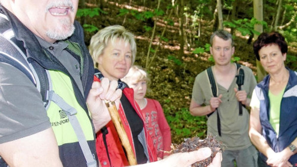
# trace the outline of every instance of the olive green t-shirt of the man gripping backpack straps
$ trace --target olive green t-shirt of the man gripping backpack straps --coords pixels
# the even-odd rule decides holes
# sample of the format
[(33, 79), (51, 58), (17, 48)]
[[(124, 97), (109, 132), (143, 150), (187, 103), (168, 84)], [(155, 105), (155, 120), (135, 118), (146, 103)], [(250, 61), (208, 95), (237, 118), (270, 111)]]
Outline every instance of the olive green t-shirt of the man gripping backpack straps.
[[(241, 86), (241, 89), (247, 92), (248, 97), (251, 97), (257, 82), (251, 69), (243, 65), (241, 67), (244, 69), (244, 85)], [(217, 136), (217, 139), (227, 146), (226, 150), (246, 149), (251, 146), (248, 135), (249, 112), (243, 107), (243, 115), (239, 116), (238, 114), (239, 105), (234, 91), (234, 88), (238, 88), (236, 84), (236, 77), (234, 77), (228, 89), (225, 89), (219, 84), (217, 85), (218, 94), (222, 94), (222, 103), (218, 108), (222, 136), (218, 135), (217, 111), (208, 117), (207, 134)], [(211, 97), (213, 97), (213, 95), (205, 70), (198, 74), (195, 78), (192, 100), (199, 105), (209, 105)]]

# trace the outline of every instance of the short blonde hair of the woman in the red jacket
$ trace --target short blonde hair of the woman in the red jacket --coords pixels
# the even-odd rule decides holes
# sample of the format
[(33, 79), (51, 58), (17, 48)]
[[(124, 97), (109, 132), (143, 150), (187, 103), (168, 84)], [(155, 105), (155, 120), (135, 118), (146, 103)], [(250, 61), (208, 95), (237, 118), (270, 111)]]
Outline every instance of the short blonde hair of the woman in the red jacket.
[(95, 67), (98, 67), (98, 57), (103, 53), (108, 42), (110, 41), (114, 45), (116, 39), (124, 40), (126, 44), (130, 44), (132, 64), (134, 63), (136, 56), (136, 42), (134, 40), (134, 35), (127, 31), (123, 26), (113, 25), (101, 29), (91, 37), (89, 52), (94, 60)]

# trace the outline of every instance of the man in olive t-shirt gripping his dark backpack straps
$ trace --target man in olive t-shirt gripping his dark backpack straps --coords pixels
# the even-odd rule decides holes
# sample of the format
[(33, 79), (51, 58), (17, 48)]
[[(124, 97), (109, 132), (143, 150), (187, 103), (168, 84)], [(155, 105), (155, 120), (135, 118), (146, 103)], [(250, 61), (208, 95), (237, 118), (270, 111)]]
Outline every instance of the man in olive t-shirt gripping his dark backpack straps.
[(214, 66), (198, 74), (193, 86), (190, 113), (208, 116), (207, 134), (217, 136), (226, 146), (222, 166), (255, 167), (257, 151), (249, 140), (249, 106), (256, 80), (252, 70), (231, 63), (232, 35), (215, 31), (210, 38)]

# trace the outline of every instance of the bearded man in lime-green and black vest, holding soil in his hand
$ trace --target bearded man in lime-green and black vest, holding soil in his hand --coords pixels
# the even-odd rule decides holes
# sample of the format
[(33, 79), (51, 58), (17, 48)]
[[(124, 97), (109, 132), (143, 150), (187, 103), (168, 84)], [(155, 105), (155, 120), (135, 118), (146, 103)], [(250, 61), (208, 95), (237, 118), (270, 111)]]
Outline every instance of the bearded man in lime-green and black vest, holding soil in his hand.
[[(96, 167), (95, 132), (110, 121), (104, 100), (119, 107), (121, 90), (107, 78), (93, 83), (93, 61), (74, 21), (78, 0), (0, 2), (0, 166)], [(189, 166), (210, 153), (175, 154), (159, 164)]]

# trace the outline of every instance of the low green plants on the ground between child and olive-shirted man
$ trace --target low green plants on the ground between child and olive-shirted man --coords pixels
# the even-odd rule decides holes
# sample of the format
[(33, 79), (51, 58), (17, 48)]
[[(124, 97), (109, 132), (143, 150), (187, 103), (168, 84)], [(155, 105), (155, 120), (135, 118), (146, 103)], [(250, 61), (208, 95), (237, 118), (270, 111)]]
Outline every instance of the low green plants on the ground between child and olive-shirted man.
[[(164, 112), (166, 112), (166, 108)], [(165, 114), (167, 115), (167, 114)], [(171, 128), (173, 141), (181, 142), (183, 138), (206, 136), (206, 116), (192, 116), (188, 108), (181, 108), (174, 115), (167, 115), (166, 119)]]

